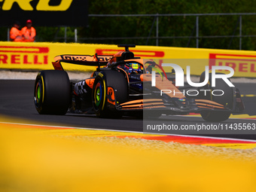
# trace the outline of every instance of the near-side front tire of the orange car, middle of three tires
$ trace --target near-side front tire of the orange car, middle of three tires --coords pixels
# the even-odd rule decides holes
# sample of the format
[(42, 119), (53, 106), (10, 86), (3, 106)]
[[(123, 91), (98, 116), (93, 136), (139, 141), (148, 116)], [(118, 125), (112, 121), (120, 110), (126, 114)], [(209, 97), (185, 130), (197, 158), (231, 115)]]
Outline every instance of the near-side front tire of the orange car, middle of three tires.
[[(109, 89), (111, 93), (109, 93)], [(119, 118), (122, 117), (122, 111), (117, 111), (114, 104), (110, 104), (111, 94), (114, 94), (117, 104), (121, 104), (128, 100), (128, 83), (123, 73), (112, 69), (105, 70), (96, 76), (93, 84), (93, 110), (97, 117), (103, 118)]]

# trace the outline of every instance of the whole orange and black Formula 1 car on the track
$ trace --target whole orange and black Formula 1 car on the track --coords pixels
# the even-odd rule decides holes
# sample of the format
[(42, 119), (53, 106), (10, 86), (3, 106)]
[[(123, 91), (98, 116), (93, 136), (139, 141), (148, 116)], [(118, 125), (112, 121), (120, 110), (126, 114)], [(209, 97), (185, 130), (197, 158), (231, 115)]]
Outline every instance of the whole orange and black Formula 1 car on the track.
[[(216, 79), (197, 89), (223, 90), (221, 96), (206, 91), (187, 96), (175, 86), (175, 78), (152, 59), (135, 57), (129, 47), (113, 55), (59, 55), (54, 58), (55, 70), (44, 70), (35, 79), (35, 108), (39, 114), (96, 114), (98, 117), (123, 115), (159, 117), (161, 114), (200, 113), (204, 120), (227, 120), (232, 113), (244, 109), (239, 90)], [(90, 78), (70, 82), (62, 63), (97, 66)], [(102, 67), (103, 66), (103, 67)], [(211, 75), (211, 74), (209, 74)], [(152, 79), (154, 86), (152, 86)], [(204, 80), (204, 73), (200, 81)], [(170, 91), (172, 90), (172, 91)], [(198, 92), (199, 93), (199, 92)], [(190, 94), (191, 95), (191, 94)], [(144, 116), (145, 117), (145, 116)]]

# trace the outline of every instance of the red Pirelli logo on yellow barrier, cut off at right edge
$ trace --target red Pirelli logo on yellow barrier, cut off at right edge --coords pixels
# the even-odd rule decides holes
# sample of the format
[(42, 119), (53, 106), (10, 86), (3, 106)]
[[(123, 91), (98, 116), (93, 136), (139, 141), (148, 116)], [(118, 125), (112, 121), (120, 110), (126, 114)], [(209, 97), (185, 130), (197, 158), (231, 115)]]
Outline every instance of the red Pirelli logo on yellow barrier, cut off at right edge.
[(212, 66), (230, 66), (235, 72), (256, 73), (256, 56), (209, 53), (209, 68)]

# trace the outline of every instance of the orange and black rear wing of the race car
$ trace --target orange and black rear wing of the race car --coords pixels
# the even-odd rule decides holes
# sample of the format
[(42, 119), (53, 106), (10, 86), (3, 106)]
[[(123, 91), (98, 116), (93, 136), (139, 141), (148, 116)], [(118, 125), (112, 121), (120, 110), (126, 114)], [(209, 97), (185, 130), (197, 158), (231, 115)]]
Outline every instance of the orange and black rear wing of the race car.
[(113, 55), (59, 55), (55, 56), (53, 67), (55, 70), (63, 70), (61, 62), (72, 63), (81, 66), (105, 66)]

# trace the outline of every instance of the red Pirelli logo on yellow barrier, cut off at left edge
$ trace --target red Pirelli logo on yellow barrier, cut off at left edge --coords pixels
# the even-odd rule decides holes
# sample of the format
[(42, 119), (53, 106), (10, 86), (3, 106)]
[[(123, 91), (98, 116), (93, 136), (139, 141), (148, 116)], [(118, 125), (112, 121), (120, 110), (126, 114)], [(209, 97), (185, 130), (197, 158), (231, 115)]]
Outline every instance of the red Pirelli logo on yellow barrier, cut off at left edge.
[(1, 65), (47, 65), (49, 47), (0, 46)]

